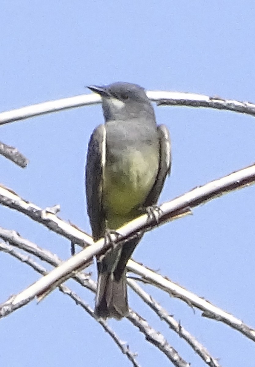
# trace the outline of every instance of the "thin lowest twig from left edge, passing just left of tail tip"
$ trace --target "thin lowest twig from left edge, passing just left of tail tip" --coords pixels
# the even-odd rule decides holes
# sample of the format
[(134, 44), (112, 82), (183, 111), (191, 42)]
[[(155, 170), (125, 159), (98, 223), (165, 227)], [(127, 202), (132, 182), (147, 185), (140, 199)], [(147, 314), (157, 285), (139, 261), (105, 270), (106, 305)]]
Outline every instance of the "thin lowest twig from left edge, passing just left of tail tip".
[[(34, 246), (36, 246), (36, 245), (34, 245)], [(13, 257), (17, 258), (18, 260), (20, 260), (20, 261), (24, 262), (25, 264), (31, 266), (34, 270), (36, 270), (38, 273), (40, 273), (42, 275), (47, 274), (47, 270), (45, 268), (43, 268), (43, 266), (37, 264), (29, 256), (25, 256), (25, 255), (21, 254), (20, 252), (14, 250), (14, 248), (12, 246), (8, 245), (8, 244), (0, 242), (0, 251), (4, 251), (4, 252), (12, 255)], [(47, 252), (49, 252), (49, 251), (47, 251)], [(51, 254), (51, 257), (54, 257), (54, 255)], [(48, 259), (48, 255), (45, 256), (45, 261), (48, 261), (48, 260), (46, 260), (46, 258)], [(94, 284), (94, 291), (95, 291), (95, 288), (96, 288), (96, 286)], [(106, 323), (105, 320), (97, 319), (94, 315), (93, 310), (90, 308), (90, 306), (85, 304), (85, 302), (76, 293), (74, 293), (72, 290), (70, 290), (70, 288), (68, 288), (68, 287), (64, 286), (63, 284), (61, 284), (61, 286), (59, 286), (59, 291), (61, 291), (63, 294), (68, 295), (69, 297), (71, 297), (77, 305), (80, 305), (86, 312), (89, 313), (90, 316), (92, 316), (96, 321), (98, 321), (99, 324), (106, 331), (106, 333), (108, 333), (110, 335), (110, 337), (114, 340), (114, 342), (120, 348), (121, 352), (124, 355), (126, 355), (128, 357), (128, 359), (132, 362), (133, 366), (139, 367), (139, 364), (135, 360), (136, 353), (132, 353), (130, 351), (129, 347), (123, 341), (120, 340), (120, 338), (116, 335), (116, 333), (114, 333), (114, 331), (108, 326), (108, 324)]]

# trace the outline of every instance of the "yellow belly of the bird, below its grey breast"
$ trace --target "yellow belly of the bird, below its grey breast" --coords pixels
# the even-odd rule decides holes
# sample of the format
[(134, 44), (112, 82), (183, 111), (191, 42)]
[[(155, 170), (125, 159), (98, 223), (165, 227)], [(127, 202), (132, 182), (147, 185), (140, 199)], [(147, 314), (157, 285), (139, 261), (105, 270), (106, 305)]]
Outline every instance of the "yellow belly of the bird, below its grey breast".
[(139, 214), (138, 208), (152, 189), (158, 169), (159, 155), (150, 146), (143, 154), (132, 149), (121, 163), (106, 164), (103, 204), (109, 228), (116, 229)]

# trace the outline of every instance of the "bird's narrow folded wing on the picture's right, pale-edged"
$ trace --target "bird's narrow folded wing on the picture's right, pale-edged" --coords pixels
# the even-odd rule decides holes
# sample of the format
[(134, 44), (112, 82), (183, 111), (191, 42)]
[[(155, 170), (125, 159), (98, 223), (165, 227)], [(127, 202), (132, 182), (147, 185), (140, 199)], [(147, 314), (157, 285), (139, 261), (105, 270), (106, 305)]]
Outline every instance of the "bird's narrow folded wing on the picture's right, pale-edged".
[(160, 143), (159, 172), (155, 183), (145, 200), (144, 207), (152, 206), (157, 203), (163, 189), (165, 179), (171, 171), (171, 139), (168, 128), (165, 125), (159, 125), (157, 126), (157, 130)]

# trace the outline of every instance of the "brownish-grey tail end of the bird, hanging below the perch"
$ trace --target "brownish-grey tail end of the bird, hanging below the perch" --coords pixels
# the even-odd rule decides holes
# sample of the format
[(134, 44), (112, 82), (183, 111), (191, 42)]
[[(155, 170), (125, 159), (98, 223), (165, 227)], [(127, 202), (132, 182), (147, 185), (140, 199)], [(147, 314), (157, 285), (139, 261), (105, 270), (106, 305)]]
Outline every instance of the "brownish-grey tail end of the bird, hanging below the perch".
[(114, 317), (121, 319), (128, 313), (126, 272), (119, 280), (114, 278), (113, 272), (99, 272), (96, 292), (96, 316)]

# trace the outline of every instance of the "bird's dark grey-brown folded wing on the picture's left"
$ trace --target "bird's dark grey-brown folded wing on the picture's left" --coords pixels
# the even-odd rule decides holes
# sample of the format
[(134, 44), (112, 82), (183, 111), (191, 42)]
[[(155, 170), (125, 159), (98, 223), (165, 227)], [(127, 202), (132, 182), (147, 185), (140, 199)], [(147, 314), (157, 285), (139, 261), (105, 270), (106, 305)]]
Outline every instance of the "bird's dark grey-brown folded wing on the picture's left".
[(105, 153), (105, 125), (93, 131), (88, 144), (85, 173), (87, 212), (94, 241), (105, 235), (105, 212), (102, 203), (103, 162)]

